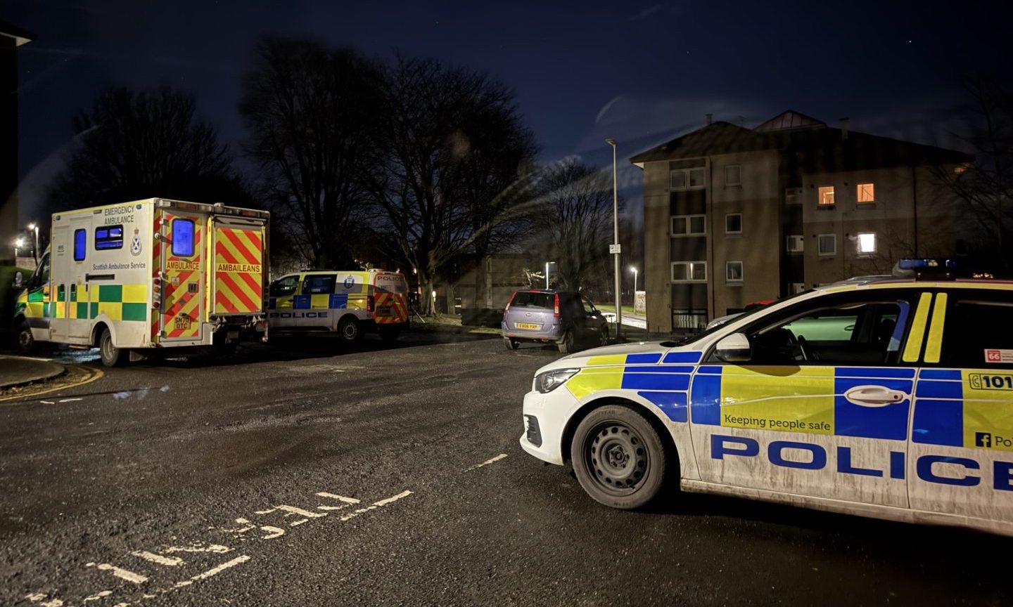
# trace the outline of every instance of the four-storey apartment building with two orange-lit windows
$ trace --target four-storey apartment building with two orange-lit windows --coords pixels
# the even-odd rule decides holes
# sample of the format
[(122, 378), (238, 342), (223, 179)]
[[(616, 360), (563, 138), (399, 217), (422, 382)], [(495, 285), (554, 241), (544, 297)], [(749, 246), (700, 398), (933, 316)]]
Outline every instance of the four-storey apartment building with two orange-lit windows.
[(938, 176), (971, 160), (792, 110), (755, 128), (708, 116), (630, 159), (643, 170), (648, 330), (695, 330), (751, 301), (959, 252)]

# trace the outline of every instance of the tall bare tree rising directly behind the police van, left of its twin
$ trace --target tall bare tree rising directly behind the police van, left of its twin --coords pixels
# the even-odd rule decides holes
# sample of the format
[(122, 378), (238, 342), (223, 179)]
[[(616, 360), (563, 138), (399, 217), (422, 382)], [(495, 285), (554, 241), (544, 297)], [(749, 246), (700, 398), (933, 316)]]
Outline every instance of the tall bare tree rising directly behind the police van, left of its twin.
[(371, 196), (381, 71), (352, 50), (266, 38), (243, 80), (247, 150), (276, 226), (316, 267), (350, 266)]

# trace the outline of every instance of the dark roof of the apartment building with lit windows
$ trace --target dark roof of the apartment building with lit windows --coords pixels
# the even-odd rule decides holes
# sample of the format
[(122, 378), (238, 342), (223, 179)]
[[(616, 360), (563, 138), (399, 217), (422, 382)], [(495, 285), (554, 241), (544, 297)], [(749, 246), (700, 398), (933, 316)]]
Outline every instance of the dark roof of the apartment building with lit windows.
[(637, 154), (630, 162), (642, 166), (645, 162), (764, 150), (791, 155), (800, 169), (809, 172), (962, 164), (975, 159), (962, 152), (934, 146), (850, 129), (842, 133), (815, 118), (788, 110), (756, 128), (719, 120)]

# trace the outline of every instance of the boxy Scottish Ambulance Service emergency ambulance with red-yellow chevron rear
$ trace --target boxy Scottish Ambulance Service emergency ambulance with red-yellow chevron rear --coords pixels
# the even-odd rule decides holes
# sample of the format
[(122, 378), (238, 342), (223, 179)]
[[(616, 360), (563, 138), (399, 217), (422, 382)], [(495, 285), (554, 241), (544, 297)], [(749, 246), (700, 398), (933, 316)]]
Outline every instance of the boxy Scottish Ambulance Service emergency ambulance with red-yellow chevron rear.
[(268, 220), (163, 198), (55, 213), (15, 306), (19, 345), (97, 346), (112, 366), (266, 340)]

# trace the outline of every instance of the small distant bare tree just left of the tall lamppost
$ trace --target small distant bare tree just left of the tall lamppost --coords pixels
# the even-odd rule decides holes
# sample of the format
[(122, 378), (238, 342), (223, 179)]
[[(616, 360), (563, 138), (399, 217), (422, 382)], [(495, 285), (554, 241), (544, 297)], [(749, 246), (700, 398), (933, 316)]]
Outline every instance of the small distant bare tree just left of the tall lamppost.
[(608, 257), (612, 229), (612, 180), (573, 160), (545, 170), (536, 212), (546, 259), (557, 262), (560, 288), (578, 290)]

